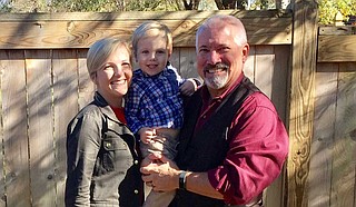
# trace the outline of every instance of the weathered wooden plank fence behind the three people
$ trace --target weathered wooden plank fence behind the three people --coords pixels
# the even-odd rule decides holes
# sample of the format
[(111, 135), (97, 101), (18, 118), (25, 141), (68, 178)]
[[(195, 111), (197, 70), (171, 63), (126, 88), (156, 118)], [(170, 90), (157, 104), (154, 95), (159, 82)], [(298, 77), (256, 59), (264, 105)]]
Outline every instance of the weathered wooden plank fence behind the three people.
[[(6, 28), (0, 32), (0, 207), (63, 206), (66, 127), (92, 98), (95, 88), (87, 75), (86, 52), (93, 41), (108, 36), (129, 39), (142, 21), (160, 20), (174, 32), (172, 65), (184, 77), (197, 77), (194, 34), (197, 26), (214, 13), (233, 14), (245, 23), (251, 45), (245, 73), (271, 98), (289, 128), (286, 170), (268, 188), (266, 206), (355, 207), (356, 125), (352, 115), (356, 100), (352, 80), (356, 60), (317, 65), (312, 52), (317, 69), (301, 79), (317, 86), (314, 109), (314, 87), (304, 90), (304, 81), (295, 82), (296, 75), (303, 73), (295, 71), (295, 61), (305, 49), (293, 41), (298, 37), (293, 30), (294, 13), (288, 10), (0, 14), (0, 28)], [(308, 31), (304, 33), (308, 36)], [(317, 48), (316, 38), (312, 40), (315, 45), (303, 46)], [(348, 72), (343, 72), (345, 69)], [(328, 78), (325, 70), (333, 76)], [(313, 106), (299, 103), (304, 100), (298, 96), (305, 93), (313, 99), (307, 105)], [(329, 102), (332, 107), (326, 105)], [(303, 114), (304, 107), (312, 107), (312, 119)], [(342, 121), (345, 124), (336, 125)], [(344, 135), (344, 129), (349, 132)], [(305, 150), (299, 150), (300, 146)], [(346, 181), (347, 188), (343, 186)], [(338, 193), (344, 193), (343, 197)]]

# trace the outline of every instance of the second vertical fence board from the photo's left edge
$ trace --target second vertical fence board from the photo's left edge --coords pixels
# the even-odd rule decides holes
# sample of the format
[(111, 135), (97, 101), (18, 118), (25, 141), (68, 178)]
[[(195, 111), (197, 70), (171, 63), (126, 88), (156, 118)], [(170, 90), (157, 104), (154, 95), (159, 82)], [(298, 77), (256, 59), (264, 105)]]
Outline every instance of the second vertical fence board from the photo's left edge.
[(55, 140), (50, 50), (26, 50), (33, 206), (55, 206)]

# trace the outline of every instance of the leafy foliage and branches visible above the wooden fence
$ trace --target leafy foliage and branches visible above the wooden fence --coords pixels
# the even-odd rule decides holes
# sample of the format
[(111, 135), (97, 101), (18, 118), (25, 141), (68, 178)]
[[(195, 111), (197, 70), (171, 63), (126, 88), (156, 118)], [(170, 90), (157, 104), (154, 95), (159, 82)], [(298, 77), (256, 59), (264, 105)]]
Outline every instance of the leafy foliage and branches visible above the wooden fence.
[[(247, 0), (0, 0), (0, 12), (177, 11), (202, 8), (247, 9)], [(275, 0), (251, 0), (248, 9), (273, 9)], [(319, 23), (332, 24), (339, 11), (347, 21), (356, 0), (318, 0)], [(215, 7), (208, 6), (212, 4)], [(201, 8), (201, 7), (200, 7)]]

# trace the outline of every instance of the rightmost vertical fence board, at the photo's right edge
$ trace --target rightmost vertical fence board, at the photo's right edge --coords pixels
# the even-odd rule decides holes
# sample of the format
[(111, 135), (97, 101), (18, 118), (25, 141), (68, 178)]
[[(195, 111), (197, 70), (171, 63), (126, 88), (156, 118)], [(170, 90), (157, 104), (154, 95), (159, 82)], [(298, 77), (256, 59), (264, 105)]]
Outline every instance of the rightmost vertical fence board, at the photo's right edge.
[(356, 62), (339, 65), (332, 206), (355, 206)]

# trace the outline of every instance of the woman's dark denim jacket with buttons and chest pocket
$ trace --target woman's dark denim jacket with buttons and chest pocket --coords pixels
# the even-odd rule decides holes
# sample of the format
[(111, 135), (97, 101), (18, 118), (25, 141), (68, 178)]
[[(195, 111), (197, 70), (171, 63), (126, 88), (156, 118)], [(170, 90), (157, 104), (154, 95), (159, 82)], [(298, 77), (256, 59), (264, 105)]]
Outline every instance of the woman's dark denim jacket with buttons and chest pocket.
[(141, 206), (137, 142), (107, 101), (93, 101), (67, 128), (66, 206)]

